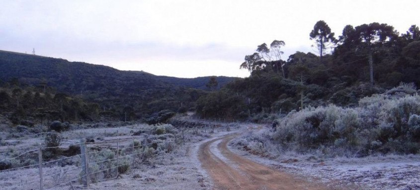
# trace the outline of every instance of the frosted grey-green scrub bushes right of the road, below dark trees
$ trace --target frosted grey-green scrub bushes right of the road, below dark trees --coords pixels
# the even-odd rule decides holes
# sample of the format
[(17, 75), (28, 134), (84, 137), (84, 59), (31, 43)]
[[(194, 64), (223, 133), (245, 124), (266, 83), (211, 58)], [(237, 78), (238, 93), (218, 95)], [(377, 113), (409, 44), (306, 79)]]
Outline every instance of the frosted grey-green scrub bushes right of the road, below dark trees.
[(321, 151), (329, 156), (420, 152), (420, 96), (412, 84), (362, 98), (354, 108), (308, 107), (277, 119), (276, 131), (234, 143), (256, 152)]

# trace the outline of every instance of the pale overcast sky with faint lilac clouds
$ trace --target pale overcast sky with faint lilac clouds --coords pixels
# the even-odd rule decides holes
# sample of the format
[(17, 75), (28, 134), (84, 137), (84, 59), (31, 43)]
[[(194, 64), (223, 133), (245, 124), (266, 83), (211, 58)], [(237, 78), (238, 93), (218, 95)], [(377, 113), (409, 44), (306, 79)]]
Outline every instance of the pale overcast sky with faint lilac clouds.
[(283, 40), (283, 60), (312, 52), (324, 20), (420, 25), (419, 0), (0, 0), (0, 50), (191, 78), (249, 76), (258, 45)]

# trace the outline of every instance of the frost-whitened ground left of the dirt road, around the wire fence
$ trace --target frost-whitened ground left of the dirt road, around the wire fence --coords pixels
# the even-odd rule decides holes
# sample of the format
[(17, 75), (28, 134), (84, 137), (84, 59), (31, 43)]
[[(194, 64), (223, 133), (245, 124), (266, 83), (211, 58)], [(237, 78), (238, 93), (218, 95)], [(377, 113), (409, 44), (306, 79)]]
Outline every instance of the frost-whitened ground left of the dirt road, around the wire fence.
[[(132, 138), (135, 131), (143, 130), (150, 126), (134, 125), (126, 127), (104, 128), (79, 128), (63, 132), (65, 137), (62, 145), (78, 143), (80, 138), (92, 138), (98, 142), (113, 142), (116, 138)], [(208, 140), (218, 138), (234, 131), (224, 131), (225, 128), (216, 128), (214, 133), (209, 129), (199, 130), (198, 134), (185, 132), (186, 142), (177, 145), (170, 153), (160, 153), (148, 163), (142, 164), (127, 173), (121, 174), (118, 179), (99, 179), (91, 183), (92, 190), (208, 190), (212, 187), (211, 179), (205, 170), (201, 168), (197, 152), (199, 146)], [(118, 133), (117, 133), (118, 131)], [(97, 139), (99, 137), (99, 139)], [(96, 142), (95, 141), (95, 142)], [(43, 142), (42, 136), (22, 136), (17, 140), (8, 139), (7, 145), (1, 150), (5, 156), (7, 150), (22, 152), (30, 148), (36, 148), (36, 143)], [(130, 141), (131, 142), (131, 141)], [(115, 143), (114, 143), (115, 144)], [(103, 145), (103, 144), (102, 144)], [(127, 144), (128, 145), (128, 144)], [(120, 143), (120, 147), (125, 146)], [(4, 157), (3, 157), (4, 158)], [(33, 158), (34, 159), (34, 158)], [(80, 157), (73, 158), (72, 163), (80, 165)], [(35, 160), (36, 161), (36, 160)], [(36, 163), (34, 163), (36, 164)], [(80, 183), (81, 169), (76, 166), (48, 165), (43, 168), (44, 189), (69, 190), (82, 189)], [(69, 170), (65, 174), (51, 175)], [(38, 168), (24, 168), (12, 171), (0, 171), (0, 189), (3, 190), (31, 190), (39, 189)], [(70, 183), (67, 183), (70, 182)], [(63, 186), (55, 187), (63, 184)], [(53, 188), (54, 187), (54, 188)]]

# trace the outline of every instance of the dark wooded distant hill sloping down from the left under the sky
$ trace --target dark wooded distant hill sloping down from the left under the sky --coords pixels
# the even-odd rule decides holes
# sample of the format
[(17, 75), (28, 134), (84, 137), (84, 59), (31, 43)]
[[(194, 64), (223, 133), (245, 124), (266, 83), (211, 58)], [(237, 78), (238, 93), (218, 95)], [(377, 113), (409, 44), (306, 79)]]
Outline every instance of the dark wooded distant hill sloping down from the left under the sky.
[[(69, 62), (0, 51), (0, 80), (17, 78), (35, 86), (46, 83), (58, 92), (76, 94), (97, 102), (103, 110), (132, 109), (138, 117), (163, 109), (194, 107), (209, 77), (176, 78), (142, 71), (122, 71), (109, 66)], [(219, 86), (234, 80), (218, 77)], [(194, 89), (190, 89), (194, 88)]]

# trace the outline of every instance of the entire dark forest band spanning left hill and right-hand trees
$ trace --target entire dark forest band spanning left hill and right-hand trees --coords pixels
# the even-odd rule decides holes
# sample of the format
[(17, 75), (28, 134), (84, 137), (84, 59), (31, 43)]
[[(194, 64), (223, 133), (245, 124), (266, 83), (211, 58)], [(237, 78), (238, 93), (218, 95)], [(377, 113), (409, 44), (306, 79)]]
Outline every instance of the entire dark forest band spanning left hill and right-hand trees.
[(159, 112), (263, 122), (269, 114), (335, 104), (355, 107), (400, 83), (420, 84), (420, 31), (384, 23), (346, 25), (340, 35), (322, 20), (308, 31), (313, 53), (282, 58), (284, 41), (258, 45), (241, 69), (250, 76), (156, 76), (102, 65), (0, 52), (1, 110), (14, 120), (145, 121)]

